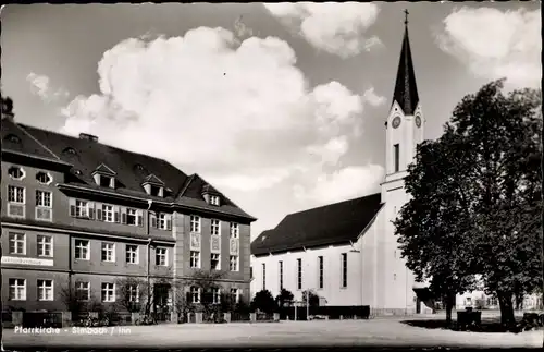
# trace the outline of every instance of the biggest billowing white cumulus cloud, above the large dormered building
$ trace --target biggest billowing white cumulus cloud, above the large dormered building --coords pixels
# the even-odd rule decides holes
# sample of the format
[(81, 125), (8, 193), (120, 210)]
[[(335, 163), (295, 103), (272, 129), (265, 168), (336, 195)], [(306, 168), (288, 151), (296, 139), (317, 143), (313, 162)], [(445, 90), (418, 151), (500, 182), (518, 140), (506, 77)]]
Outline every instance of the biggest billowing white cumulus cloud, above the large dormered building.
[(63, 132), (159, 156), (218, 187), (313, 180), (347, 153), (364, 100), (337, 82), (309, 88), (279, 38), (237, 40), (200, 27), (118, 44), (99, 62), (100, 94), (63, 110)]

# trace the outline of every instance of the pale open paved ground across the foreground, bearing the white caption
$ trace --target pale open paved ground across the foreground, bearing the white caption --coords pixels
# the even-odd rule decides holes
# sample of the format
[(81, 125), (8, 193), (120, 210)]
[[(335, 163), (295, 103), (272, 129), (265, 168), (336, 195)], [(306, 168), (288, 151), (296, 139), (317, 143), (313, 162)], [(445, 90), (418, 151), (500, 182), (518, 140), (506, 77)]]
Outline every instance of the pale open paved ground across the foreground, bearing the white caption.
[(413, 345), (539, 348), (542, 331), (512, 333), (457, 332), (407, 326), (400, 319), (282, 323), (183, 324), (106, 328), (101, 333), (61, 329), (59, 335), (4, 331), (7, 349), (41, 348), (196, 348)]

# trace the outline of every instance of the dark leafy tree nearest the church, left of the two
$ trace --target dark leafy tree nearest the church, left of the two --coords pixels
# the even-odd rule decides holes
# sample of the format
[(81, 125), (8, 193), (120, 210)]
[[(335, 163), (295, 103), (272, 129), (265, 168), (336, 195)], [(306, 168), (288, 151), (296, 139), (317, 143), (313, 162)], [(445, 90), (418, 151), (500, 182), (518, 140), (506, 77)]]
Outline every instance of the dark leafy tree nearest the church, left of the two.
[(456, 294), (474, 286), (473, 270), (463, 260), (471, 255), (467, 218), (472, 205), (467, 186), (457, 182), (467, 170), (466, 151), (449, 128), (437, 141), (419, 145), (405, 179), (410, 199), (394, 221), (406, 266), (417, 281), (430, 279), (431, 295), (443, 301), (448, 326)]

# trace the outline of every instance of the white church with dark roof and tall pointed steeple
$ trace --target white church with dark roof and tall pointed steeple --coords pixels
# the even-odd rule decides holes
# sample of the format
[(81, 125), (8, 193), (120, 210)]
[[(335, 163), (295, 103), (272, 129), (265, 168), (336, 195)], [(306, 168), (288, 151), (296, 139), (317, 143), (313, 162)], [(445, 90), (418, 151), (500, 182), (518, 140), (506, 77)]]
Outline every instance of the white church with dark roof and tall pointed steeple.
[(406, 25), (385, 122), (381, 192), (290, 214), (262, 232), (251, 243), (252, 294), (286, 289), (300, 300), (312, 290), (322, 304), (369, 305), (373, 315), (429, 312), (416, 294), (424, 284), (400, 257), (392, 223), (409, 197), (404, 178), (424, 124)]

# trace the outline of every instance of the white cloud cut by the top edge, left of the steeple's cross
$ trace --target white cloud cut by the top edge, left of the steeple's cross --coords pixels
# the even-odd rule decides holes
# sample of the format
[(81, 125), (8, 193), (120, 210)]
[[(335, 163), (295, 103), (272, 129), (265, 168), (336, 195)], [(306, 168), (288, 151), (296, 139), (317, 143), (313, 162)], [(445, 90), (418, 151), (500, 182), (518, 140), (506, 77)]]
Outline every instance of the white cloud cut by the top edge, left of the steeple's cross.
[(376, 36), (366, 34), (380, 11), (374, 3), (281, 2), (265, 3), (264, 7), (314, 48), (342, 58), (382, 45)]

